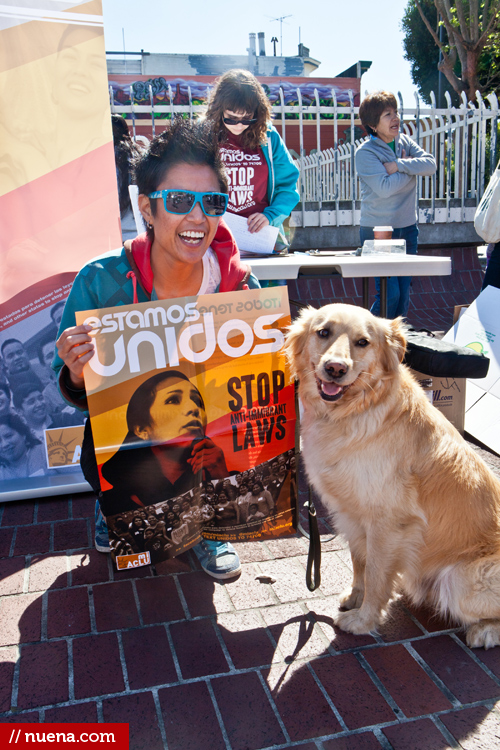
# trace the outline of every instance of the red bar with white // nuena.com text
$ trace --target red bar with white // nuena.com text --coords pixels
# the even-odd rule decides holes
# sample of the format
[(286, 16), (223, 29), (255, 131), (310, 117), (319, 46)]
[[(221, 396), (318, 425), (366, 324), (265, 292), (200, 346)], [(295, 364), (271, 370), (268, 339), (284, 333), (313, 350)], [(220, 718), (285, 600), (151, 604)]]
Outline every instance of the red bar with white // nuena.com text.
[[(1, 722), (1, 719), (0, 719)], [(128, 724), (1, 724), (0, 747), (46, 748), (107, 747), (109, 750), (129, 750)]]

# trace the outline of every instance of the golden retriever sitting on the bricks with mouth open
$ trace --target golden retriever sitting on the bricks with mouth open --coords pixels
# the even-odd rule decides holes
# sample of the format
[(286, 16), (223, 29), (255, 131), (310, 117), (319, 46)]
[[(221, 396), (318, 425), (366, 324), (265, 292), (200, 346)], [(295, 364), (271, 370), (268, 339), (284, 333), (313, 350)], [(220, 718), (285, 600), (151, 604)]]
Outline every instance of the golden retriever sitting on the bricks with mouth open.
[(500, 481), (401, 364), (401, 320), (307, 308), (286, 352), (299, 379), (309, 482), (349, 542), (352, 589), (336, 624), (370, 633), (403, 590), (500, 644)]

